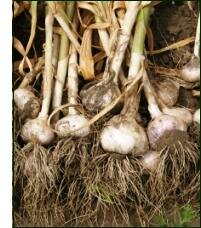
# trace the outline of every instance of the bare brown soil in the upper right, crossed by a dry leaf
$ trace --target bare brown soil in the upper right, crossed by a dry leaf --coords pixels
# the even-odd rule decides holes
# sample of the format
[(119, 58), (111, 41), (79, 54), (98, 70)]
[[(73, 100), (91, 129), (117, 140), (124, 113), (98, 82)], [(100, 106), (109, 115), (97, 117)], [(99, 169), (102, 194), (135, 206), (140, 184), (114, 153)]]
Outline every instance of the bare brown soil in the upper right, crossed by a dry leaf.
[[(194, 5), (194, 1), (192, 1)], [(197, 14), (197, 2), (195, 13)], [(182, 39), (195, 36), (197, 18), (187, 4), (159, 4), (152, 16), (151, 29), (154, 36), (154, 49), (160, 49)], [(193, 43), (154, 55), (151, 60), (159, 66), (180, 68), (187, 63), (193, 52)]]

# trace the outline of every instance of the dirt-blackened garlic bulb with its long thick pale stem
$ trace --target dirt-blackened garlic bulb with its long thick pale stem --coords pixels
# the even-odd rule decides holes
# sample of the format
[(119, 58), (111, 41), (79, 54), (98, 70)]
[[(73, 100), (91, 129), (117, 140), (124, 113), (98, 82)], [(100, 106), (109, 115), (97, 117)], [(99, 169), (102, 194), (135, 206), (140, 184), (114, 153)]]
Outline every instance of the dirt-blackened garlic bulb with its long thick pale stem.
[[(114, 56), (108, 57), (103, 80), (94, 85), (86, 85), (80, 92), (82, 104), (90, 111), (98, 111), (110, 104), (120, 95), (118, 76), (124, 53), (129, 43), (140, 2), (128, 2), (124, 21), (117, 37)], [(111, 51), (112, 52), (112, 51)], [(112, 54), (110, 53), (110, 56)]]

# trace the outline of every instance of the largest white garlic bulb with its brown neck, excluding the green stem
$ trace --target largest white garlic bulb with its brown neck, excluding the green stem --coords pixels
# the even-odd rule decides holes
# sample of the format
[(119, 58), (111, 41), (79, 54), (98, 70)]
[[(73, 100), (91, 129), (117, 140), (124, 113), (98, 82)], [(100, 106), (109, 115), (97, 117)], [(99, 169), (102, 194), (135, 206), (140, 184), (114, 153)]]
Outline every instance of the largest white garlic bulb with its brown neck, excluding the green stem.
[(102, 130), (100, 142), (105, 151), (137, 155), (148, 149), (145, 130), (135, 119), (140, 102), (138, 85), (139, 83), (135, 85), (132, 94), (127, 94), (125, 97), (121, 113), (112, 117)]

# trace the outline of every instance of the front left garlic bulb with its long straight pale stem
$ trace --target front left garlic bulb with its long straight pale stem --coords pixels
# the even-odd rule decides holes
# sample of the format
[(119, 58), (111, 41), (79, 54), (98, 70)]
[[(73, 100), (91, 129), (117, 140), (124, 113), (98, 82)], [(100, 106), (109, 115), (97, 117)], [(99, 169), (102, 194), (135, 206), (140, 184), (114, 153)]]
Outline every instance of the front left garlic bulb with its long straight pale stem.
[(36, 119), (28, 120), (22, 127), (21, 136), (24, 141), (50, 144), (54, 133), (47, 125), (51, 93), (52, 93), (52, 38), (54, 17), (52, 10), (47, 6), (45, 17), (45, 69), (43, 72), (43, 101), (41, 111)]

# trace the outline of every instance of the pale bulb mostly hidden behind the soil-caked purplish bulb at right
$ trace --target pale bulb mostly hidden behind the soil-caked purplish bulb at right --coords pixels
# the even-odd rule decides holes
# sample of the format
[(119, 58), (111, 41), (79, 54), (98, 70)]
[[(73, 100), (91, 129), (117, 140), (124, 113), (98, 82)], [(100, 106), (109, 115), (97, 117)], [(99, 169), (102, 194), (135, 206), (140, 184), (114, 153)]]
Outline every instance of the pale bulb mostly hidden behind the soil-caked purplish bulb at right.
[(191, 112), (185, 108), (164, 108), (163, 113), (175, 116), (176, 118), (183, 120), (187, 124), (187, 126), (189, 126), (193, 121), (193, 116)]

